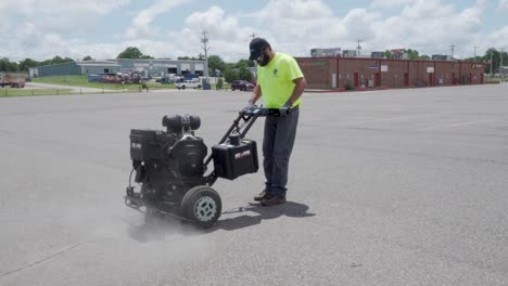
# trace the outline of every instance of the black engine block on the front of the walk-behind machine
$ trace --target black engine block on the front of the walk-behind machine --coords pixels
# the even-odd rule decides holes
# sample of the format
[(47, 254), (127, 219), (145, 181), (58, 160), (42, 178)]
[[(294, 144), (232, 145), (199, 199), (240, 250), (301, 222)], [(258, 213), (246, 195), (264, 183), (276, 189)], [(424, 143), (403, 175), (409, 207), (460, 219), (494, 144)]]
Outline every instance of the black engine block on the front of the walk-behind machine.
[(194, 131), (201, 119), (192, 115), (164, 116), (163, 130), (131, 129), (130, 158), (144, 199), (180, 202), (186, 191), (202, 184), (207, 147)]

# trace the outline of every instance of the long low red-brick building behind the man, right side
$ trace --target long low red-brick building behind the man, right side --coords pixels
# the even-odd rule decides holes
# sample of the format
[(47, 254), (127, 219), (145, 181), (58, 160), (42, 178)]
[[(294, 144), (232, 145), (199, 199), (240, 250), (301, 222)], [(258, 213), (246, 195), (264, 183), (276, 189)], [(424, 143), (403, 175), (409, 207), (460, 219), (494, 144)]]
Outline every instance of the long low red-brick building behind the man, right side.
[(296, 57), (309, 89), (409, 88), (483, 83), (477, 62)]

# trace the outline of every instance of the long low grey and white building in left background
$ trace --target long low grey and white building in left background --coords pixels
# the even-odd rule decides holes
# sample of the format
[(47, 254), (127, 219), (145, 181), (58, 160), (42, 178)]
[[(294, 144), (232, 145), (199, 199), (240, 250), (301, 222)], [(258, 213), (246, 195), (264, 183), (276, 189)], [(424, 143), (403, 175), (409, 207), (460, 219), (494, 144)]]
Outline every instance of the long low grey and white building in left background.
[(139, 72), (145, 76), (164, 76), (166, 74), (178, 76), (196, 74), (205, 76), (205, 70), (207, 69), (206, 61), (115, 58), (106, 61), (78, 61), (39, 66), (30, 68), (29, 73), (30, 77), (118, 74), (130, 72)]

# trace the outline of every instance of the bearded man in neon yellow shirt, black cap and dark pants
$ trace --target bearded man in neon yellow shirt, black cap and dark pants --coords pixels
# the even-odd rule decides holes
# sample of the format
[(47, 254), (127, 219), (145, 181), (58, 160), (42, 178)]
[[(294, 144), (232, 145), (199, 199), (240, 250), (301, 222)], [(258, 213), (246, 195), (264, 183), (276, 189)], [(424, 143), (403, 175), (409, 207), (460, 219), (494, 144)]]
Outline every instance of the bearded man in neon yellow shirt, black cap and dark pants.
[(257, 86), (249, 106), (263, 96), (264, 107), (279, 108), (278, 116), (267, 116), (263, 139), (263, 168), (265, 190), (254, 197), (263, 206), (285, 203), (288, 167), (296, 135), (302, 93), (307, 83), (296, 61), (287, 54), (276, 53), (261, 38), (250, 43), (249, 60), (257, 63)]

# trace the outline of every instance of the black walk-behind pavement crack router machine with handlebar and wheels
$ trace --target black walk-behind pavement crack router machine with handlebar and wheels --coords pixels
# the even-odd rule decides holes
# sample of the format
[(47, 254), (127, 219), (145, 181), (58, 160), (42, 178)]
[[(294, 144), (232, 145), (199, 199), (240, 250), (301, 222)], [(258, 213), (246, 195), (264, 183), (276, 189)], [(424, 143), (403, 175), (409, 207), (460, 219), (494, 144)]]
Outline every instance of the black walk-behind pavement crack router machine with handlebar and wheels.
[[(245, 139), (258, 117), (282, 116), (279, 109), (252, 107), (239, 112), (220, 142), (207, 147), (194, 135), (201, 119), (192, 115), (164, 116), (163, 130), (131, 129), (132, 171), (125, 204), (145, 216), (173, 216), (207, 229), (215, 224), (223, 204), (212, 185), (218, 178), (234, 180), (257, 172), (257, 146)], [(207, 166), (214, 161), (208, 174)], [(139, 186), (132, 186), (134, 181)]]

